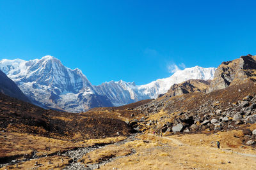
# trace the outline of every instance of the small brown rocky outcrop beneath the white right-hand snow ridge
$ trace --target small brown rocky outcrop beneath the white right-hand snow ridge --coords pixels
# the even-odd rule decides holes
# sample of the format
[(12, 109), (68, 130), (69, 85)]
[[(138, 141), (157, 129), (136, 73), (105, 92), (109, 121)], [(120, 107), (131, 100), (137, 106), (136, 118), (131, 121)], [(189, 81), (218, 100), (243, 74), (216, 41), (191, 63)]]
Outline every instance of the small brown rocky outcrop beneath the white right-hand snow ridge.
[(205, 92), (209, 87), (211, 80), (188, 80), (179, 84), (174, 84), (165, 94), (166, 96), (180, 96), (190, 92)]

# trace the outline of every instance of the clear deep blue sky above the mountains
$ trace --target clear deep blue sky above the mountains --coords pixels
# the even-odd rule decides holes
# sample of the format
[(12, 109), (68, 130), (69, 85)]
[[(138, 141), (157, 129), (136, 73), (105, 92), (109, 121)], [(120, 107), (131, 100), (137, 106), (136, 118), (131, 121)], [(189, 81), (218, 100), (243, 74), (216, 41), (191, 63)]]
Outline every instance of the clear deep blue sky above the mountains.
[(52, 55), (99, 85), (256, 55), (255, 1), (3, 1), (0, 59)]

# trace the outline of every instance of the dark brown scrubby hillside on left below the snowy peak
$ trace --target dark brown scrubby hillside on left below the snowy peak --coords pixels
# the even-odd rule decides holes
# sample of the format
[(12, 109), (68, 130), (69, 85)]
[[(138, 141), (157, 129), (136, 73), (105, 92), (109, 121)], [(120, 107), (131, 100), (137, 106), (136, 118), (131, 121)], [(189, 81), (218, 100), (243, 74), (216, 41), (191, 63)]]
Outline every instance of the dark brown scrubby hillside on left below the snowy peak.
[(44, 110), (0, 93), (0, 128), (51, 138), (83, 139), (129, 134), (122, 120)]

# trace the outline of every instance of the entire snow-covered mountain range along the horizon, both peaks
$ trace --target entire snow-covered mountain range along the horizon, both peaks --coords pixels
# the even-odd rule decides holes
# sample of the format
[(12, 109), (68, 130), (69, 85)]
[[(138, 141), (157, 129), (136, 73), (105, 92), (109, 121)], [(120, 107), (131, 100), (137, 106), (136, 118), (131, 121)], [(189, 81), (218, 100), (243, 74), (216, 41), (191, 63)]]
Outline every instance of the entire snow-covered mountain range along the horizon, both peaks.
[(69, 69), (60, 60), (45, 56), (35, 60), (0, 60), (0, 69), (38, 106), (70, 112), (94, 107), (120, 106), (142, 99), (156, 98), (174, 83), (189, 79), (209, 80), (215, 68), (191, 67), (147, 85), (109, 81), (94, 86), (79, 69)]

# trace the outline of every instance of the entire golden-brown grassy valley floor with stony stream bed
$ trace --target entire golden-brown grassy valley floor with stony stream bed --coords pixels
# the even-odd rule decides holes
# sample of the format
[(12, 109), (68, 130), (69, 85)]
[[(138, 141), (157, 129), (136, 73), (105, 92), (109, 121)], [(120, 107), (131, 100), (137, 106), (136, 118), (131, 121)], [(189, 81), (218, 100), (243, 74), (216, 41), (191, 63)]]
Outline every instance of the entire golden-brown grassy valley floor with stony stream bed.
[(1, 160), (13, 159), (0, 169), (255, 169), (256, 150), (242, 138), (243, 132), (234, 130), (74, 142), (2, 132)]

